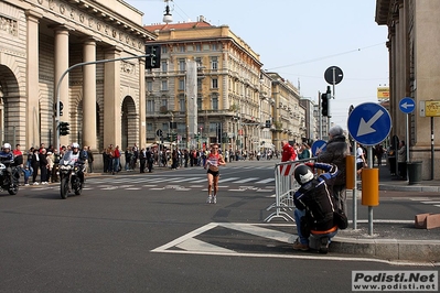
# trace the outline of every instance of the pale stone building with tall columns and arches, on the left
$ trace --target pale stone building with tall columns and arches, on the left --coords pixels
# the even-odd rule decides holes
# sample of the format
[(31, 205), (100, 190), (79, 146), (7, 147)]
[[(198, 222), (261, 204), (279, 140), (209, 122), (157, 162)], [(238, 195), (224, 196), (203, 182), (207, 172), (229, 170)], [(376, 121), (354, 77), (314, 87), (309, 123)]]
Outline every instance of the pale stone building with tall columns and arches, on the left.
[[(144, 145), (144, 43), (142, 12), (120, 0), (3, 0), (0, 2), (0, 131), (23, 149), (56, 141), (56, 89), (61, 121), (74, 141)], [(64, 78), (61, 78), (65, 74)]]

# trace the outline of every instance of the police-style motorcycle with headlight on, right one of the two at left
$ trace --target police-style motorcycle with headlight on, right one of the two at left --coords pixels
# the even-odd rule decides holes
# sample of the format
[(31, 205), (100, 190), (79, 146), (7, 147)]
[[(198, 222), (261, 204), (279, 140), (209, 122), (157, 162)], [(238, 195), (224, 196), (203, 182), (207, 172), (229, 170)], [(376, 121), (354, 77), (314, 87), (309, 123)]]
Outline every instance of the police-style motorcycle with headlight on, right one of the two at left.
[(79, 174), (83, 172), (83, 165), (72, 161), (68, 154), (67, 158), (60, 161), (61, 198), (66, 199), (72, 191), (76, 195), (81, 195), (83, 183)]

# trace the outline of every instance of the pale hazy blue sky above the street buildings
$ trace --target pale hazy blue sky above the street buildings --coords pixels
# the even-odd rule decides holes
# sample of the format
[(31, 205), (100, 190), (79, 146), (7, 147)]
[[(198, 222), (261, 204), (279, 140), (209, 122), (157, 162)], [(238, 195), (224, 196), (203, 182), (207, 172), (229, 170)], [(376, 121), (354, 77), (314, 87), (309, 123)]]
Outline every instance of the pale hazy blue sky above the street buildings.
[[(143, 24), (161, 23), (163, 0), (126, 0), (144, 13)], [(173, 0), (173, 22), (227, 24), (256, 53), (264, 69), (278, 72), (301, 96), (318, 102), (329, 85), (324, 72), (344, 73), (331, 102), (332, 121), (346, 127), (350, 105), (376, 101), (388, 86), (387, 28), (375, 22), (375, 0)]]

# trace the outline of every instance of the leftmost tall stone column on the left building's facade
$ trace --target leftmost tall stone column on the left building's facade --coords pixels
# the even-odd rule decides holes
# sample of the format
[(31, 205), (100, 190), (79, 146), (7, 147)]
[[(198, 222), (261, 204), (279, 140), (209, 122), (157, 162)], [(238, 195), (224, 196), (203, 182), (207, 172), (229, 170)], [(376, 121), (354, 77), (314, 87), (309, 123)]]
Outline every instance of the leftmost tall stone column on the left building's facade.
[(34, 11), (26, 11), (26, 138), (25, 150), (31, 146), (40, 145), (40, 128), (39, 128), (39, 21), (43, 15)]

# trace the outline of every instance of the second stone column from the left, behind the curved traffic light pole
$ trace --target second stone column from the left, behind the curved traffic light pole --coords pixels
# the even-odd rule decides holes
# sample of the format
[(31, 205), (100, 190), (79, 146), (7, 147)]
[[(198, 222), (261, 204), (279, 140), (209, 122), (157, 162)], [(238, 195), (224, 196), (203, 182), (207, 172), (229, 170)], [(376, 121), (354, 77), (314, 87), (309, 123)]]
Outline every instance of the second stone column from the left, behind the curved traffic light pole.
[[(71, 121), (71, 107), (68, 95), (68, 74), (66, 74), (60, 83), (61, 76), (68, 68), (68, 29), (66, 26), (55, 28), (55, 97), (54, 104), (56, 105), (56, 86), (60, 87), (60, 101), (63, 104), (63, 116), (60, 117), (61, 121), (68, 122), (72, 129)], [(60, 85), (58, 85), (60, 83)], [(56, 132), (55, 132), (56, 133)], [(60, 144), (67, 145), (71, 143), (71, 135), (60, 137)], [(60, 148), (60, 145), (57, 145)]]

